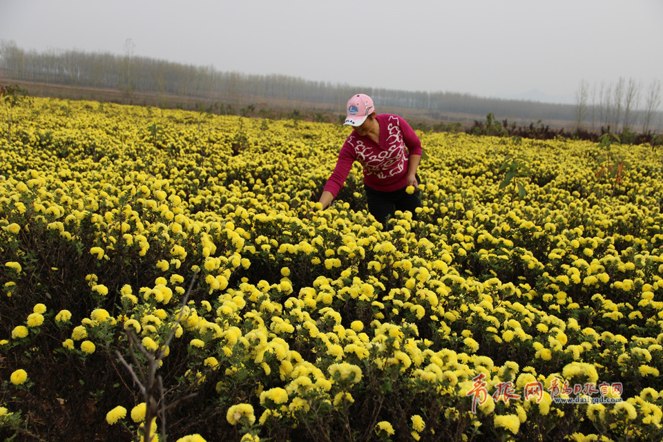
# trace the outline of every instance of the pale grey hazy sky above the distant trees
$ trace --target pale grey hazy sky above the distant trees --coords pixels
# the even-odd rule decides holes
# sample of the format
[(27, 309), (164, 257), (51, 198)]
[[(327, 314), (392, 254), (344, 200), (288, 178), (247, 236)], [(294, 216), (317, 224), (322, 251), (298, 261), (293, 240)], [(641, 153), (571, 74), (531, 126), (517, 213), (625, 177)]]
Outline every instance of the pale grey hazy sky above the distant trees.
[(573, 95), (663, 79), (663, 0), (0, 0), (26, 50), (134, 54), (403, 90)]

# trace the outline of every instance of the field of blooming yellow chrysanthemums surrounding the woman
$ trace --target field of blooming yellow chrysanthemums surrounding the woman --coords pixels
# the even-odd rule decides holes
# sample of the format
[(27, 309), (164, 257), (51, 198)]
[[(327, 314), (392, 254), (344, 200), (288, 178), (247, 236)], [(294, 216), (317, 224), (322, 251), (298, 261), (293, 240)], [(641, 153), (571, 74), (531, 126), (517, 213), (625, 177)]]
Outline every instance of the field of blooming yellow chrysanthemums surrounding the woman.
[(663, 438), (649, 146), (612, 146), (617, 184), (597, 144), (420, 133), (423, 208), (383, 231), (358, 164), (311, 212), (349, 128), (0, 116), (2, 439)]

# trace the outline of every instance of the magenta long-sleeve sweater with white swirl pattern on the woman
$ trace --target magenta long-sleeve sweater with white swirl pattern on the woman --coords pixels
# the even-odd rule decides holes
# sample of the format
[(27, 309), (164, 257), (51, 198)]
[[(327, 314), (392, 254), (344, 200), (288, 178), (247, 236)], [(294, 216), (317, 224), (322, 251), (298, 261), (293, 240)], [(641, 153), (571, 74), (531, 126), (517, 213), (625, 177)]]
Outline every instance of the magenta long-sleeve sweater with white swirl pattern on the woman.
[(355, 161), (363, 166), (364, 184), (371, 189), (391, 192), (407, 186), (409, 158), (421, 155), (421, 141), (410, 124), (398, 115), (381, 114), (376, 119), (380, 124), (380, 144), (352, 131), (340, 148), (336, 167), (324, 189), (334, 198)]

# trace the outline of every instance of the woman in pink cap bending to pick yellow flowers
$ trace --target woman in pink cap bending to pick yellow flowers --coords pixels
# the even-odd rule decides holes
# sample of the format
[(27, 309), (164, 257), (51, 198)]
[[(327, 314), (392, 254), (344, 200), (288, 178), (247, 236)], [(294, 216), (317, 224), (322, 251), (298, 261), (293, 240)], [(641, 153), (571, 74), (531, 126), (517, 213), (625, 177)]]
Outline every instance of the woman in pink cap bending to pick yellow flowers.
[[(421, 141), (409, 124), (398, 115), (376, 115), (373, 100), (365, 94), (347, 102), (344, 125), (354, 127), (340, 148), (334, 173), (327, 180), (320, 204), (323, 209), (336, 198), (352, 164), (358, 160), (364, 169), (364, 189), (368, 210), (386, 227), (397, 210), (414, 211), (421, 207), (419, 177)], [(414, 186), (414, 193), (407, 193)]]

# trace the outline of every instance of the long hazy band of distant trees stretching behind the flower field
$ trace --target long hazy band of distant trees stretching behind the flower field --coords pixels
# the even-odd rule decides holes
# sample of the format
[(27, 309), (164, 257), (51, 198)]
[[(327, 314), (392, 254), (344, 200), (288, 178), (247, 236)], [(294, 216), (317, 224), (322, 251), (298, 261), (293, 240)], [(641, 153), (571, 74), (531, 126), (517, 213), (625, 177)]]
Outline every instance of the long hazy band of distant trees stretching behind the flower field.
[[(586, 119), (590, 115), (586, 101), (576, 106), (547, 104), (477, 97), (466, 93), (359, 88), (287, 75), (220, 72), (213, 66), (185, 65), (135, 56), (130, 40), (126, 42), (124, 52), (124, 55), (114, 55), (110, 52), (90, 53), (80, 50), (26, 51), (14, 41), (3, 40), (0, 42), (0, 68), (8, 71), (12, 78), (24, 81), (109, 88), (126, 93), (173, 94), (238, 104), (276, 99), (291, 106), (301, 105), (326, 111), (342, 109), (348, 97), (361, 90), (371, 95), (381, 108), (417, 109), (438, 121), (471, 122), (477, 116), (493, 113), (498, 119), (508, 118), (521, 123), (541, 120), (564, 121), (572, 125), (579, 121), (587, 123)], [(635, 130), (640, 130), (644, 127), (644, 117), (633, 111), (631, 123)], [(594, 119), (588, 124), (598, 129), (600, 125), (610, 122)], [(640, 127), (635, 128), (635, 124)]]

